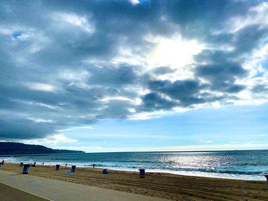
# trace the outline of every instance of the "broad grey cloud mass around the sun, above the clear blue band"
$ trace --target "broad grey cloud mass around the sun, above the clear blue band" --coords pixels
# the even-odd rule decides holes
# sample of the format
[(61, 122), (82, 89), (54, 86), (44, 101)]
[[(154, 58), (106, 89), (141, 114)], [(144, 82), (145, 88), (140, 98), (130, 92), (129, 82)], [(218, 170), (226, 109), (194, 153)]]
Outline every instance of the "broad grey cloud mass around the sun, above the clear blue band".
[[(243, 82), (253, 69), (245, 64), (267, 42), (264, 14), (256, 9), (261, 4), (1, 1), (0, 139), (43, 138), (101, 119), (229, 104), (243, 90), (263, 96), (266, 82), (251, 89)], [(237, 18), (247, 24), (232, 27)], [(146, 63), (157, 47), (149, 38), (178, 35), (204, 44), (192, 63)]]

